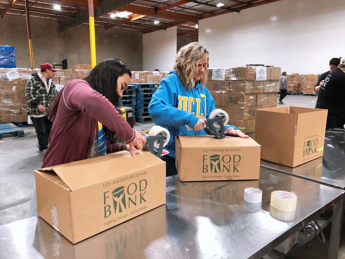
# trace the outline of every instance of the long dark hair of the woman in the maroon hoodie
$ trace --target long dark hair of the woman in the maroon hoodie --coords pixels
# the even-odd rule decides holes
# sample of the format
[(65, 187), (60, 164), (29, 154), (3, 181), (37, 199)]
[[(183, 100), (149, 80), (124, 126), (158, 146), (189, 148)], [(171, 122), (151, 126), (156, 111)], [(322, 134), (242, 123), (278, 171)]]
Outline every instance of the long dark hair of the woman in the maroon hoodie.
[[(84, 80), (88, 82), (92, 89), (105, 96), (119, 111), (117, 79), (124, 74), (128, 74), (129, 77), (132, 76), (130, 69), (121, 60), (108, 58), (96, 65)], [(116, 142), (116, 132), (112, 132), (105, 125), (103, 125), (103, 131), (111, 143)]]

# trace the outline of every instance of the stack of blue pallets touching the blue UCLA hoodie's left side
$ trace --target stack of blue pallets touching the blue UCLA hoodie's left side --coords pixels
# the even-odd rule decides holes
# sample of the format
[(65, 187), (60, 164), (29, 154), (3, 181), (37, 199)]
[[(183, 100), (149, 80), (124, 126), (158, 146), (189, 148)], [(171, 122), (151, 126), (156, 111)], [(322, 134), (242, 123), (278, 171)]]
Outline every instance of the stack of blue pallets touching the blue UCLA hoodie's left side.
[(137, 105), (135, 108), (135, 116), (137, 122), (152, 121), (148, 108), (157, 86), (157, 84), (136, 84)]

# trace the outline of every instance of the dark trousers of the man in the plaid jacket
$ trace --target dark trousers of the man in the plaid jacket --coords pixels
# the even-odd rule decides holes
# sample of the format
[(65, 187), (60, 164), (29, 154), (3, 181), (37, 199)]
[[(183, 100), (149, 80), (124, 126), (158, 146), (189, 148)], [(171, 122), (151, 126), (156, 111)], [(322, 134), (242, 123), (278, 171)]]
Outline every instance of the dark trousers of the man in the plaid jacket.
[(47, 116), (34, 118), (31, 117), (33, 126), (35, 127), (40, 151), (48, 148), (49, 134), (53, 123), (49, 121)]

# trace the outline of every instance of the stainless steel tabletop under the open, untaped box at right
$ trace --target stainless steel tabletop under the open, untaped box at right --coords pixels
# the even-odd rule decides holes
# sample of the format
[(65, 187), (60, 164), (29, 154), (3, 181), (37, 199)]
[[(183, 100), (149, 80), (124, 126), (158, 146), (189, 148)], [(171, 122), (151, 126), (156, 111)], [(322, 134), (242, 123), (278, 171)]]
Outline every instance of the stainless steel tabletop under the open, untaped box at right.
[(280, 173), (297, 176), (306, 180), (345, 189), (345, 130), (326, 131), (323, 157), (314, 159), (294, 168), (265, 160), (260, 166)]

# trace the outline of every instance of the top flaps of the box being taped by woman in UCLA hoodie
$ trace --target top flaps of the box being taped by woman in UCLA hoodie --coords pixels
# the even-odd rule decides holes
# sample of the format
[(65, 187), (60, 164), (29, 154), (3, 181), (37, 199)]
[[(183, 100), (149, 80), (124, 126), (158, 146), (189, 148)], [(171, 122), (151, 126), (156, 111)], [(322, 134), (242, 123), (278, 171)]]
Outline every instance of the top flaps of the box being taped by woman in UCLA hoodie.
[(181, 147), (238, 147), (260, 146), (252, 138), (226, 136), (217, 139), (214, 136), (179, 136)]

